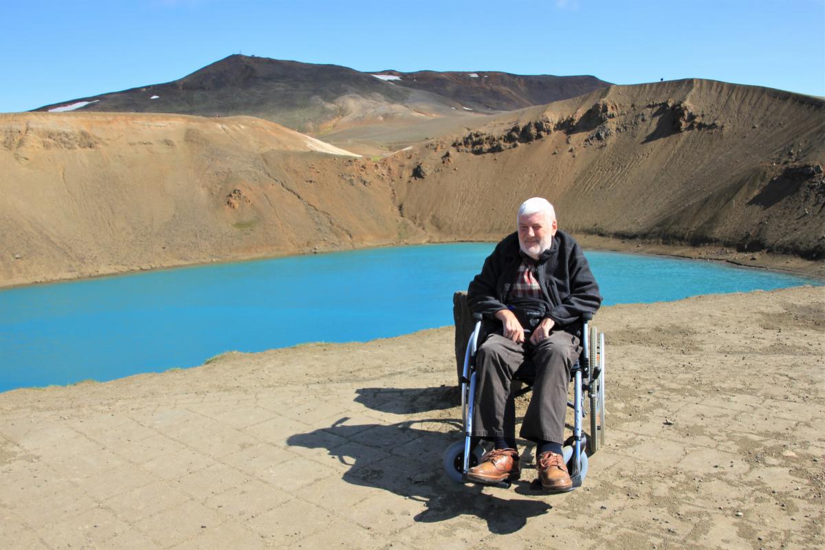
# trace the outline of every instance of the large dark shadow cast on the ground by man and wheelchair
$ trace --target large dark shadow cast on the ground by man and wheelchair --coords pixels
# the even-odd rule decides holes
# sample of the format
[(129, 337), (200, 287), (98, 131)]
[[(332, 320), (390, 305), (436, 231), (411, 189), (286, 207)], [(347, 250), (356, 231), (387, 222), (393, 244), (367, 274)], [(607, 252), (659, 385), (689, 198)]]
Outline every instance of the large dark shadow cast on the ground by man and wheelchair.
[[(376, 487), (422, 502), (426, 510), (415, 515), (415, 521), (433, 523), (475, 515), (487, 522), (491, 533), (508, 534), (524, 527), (527, 519), (552, 508), (535, 499), (503, 499), (483, 492), (481, 487), (462, 485), (446, 477), (441, 458), (446, 447), (460, 439), (460, 421), (436, 419), (390, 425), (349, 421), (345, 417), (328, 428), (292, 435), (287, 443), (326, 449), (350, 467), (343, 475), (347, 483)], [(443, 428), (445, 424), (455, 425), (456, 430), (446, 434), (427, 429)], [(518, 494), (531, 493), (529, 482), (517, 483)]]

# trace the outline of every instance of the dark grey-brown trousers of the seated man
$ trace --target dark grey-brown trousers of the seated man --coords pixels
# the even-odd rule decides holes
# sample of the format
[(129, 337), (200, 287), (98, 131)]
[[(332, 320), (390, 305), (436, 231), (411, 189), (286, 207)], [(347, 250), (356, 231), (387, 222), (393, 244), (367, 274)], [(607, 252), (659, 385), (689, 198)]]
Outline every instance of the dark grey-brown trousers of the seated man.
[(563, 443), (570, 369), (581, 353), (578, 338), (565, 331), (551, 332), (538, 346), (529, 341), (516, 344), (498, 334), (488, 336), (476, 355), (479, 380), (473, 435), (515, 437), (516, 400), (511, 391), (512, 378), (519, 369), (529, 371), (527, 374), (535, 369), (533, 395), (520, 435), (530, 441)]

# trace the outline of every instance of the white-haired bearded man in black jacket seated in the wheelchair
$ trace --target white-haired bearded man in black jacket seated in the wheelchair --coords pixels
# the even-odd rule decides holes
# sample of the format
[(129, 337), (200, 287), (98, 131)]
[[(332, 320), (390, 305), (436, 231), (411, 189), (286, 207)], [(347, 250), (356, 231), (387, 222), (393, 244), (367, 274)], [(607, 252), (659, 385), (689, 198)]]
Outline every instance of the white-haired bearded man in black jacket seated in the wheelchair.
[(495, 484), (519, 477), (511, 384), (516, 371), (532, 367), (533, 395), (520, 435), (536, 444), (542, 487), (570, 491), (562, 454), (570, 370), (582, 351), (580, 317), (596, 312), (601, 294), (582, 248), (558, 230), (552, 204), (526, 200), (517, 219), (518, 231), (497, 244), (467, 293), (488, 331), (476, 355), (472, 435), (493, 441), (467, 478)]

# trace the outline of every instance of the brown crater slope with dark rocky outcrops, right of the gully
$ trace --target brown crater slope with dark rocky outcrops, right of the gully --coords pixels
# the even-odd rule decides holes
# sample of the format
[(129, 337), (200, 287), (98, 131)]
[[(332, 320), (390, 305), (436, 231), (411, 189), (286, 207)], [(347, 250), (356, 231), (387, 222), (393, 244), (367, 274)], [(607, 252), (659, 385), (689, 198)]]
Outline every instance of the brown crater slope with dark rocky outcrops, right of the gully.
[(389, 162), (410, 175), (398, 182), (404, 217), (435, 237), (492, 240), (540, 195), (573, 233), (825, 257), (825, 101), (809, 96), (616, 86)]

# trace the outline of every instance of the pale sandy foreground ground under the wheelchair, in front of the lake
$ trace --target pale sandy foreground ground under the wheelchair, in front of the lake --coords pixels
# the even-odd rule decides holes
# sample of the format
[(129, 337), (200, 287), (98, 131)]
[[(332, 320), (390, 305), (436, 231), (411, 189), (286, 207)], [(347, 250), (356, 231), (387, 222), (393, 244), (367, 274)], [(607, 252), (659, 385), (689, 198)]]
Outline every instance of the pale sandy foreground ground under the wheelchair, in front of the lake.
[[(452, 327), (0, 399), (8, 548), (822, 548), (825, 289), (603, 309), (581, 489), (446, 480)], [(449, 306), (446, 306), (449, 307)], [(520, 410), (523, 411), (523, 402)]]

